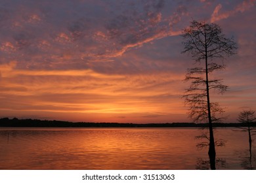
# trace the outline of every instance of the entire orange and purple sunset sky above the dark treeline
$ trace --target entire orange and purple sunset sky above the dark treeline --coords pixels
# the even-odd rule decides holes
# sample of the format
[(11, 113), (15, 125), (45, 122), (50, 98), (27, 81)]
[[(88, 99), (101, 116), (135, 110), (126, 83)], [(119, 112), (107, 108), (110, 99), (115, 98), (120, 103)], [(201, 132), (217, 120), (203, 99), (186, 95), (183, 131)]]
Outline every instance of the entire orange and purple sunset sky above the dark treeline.
[(226, 58), (224, 95), (236, 122), (256, 110), (256, 1), (1, 0), (0, 118), (71, 122), (191, 122), (183, 50), (192, 20), (221, 26), (237, 54)]

